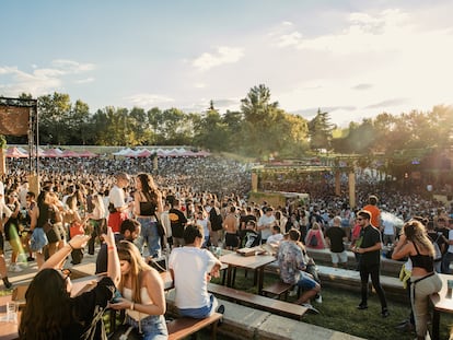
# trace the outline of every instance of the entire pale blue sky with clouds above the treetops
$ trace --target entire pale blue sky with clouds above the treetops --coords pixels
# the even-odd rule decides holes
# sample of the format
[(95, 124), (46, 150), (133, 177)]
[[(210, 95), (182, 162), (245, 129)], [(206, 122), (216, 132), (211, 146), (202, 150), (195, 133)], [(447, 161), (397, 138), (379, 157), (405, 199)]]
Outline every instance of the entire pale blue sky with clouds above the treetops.
[(2, 0), (0, 95), (287, 113), (347, 126), (453, 104), (450, 0)]

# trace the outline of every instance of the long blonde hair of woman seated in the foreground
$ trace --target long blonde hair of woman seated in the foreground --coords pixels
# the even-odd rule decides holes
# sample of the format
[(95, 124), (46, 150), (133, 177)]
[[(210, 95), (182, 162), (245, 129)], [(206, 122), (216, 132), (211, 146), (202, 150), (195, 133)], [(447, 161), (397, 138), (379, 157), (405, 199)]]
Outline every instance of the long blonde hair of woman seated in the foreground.
[(126, 278), (130, 277), (132, 302), (141, 303), (140, 289), (142, 286), (142, 277), (146, 271), (155, 270), (151, 268), (140, 255), (139, 249), (129, 241), (120, 241), (117, 246), (118, 257), (120, 261), (128, 261), (130, 270), (127, 274), (121, 274), (119, 282), (119, 291), (124, 293)]

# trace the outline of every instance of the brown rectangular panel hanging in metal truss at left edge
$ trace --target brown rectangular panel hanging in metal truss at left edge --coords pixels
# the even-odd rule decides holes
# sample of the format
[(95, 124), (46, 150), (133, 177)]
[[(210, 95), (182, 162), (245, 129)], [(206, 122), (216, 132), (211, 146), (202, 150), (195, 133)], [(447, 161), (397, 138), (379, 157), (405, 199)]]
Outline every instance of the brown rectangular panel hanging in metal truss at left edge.
[(30, 107), (0, 106), (0, 134), (28, 134)]

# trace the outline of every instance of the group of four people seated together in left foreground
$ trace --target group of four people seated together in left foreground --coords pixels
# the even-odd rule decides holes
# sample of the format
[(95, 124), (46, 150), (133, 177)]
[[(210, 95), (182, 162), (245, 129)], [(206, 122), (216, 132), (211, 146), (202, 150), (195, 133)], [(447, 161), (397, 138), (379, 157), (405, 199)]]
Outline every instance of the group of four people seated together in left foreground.
[[(94, 289), (77, 296), (71, 295), (70, 271), (63, 265), (71, 251), (86, 245), (90, 236), (77, 235), (50, 256), (26, 292), (20, 338), (105, 339), (102, 315), (112, 308), (125, 310), (125, 323), (141, 339), (167, 339), (163, 280), (130, 238), (130, 231), (139, 228), (140, 224), (132, 220), (121, 223), (124, 237), (115, 237), (107, 228), (103, 235), (106, 256), (100, 255), (97, 259), (98, 266), (105, 266), (105, 275), (100, 275)], [(210, 278), (219, 277), (221, 263), (201, 248), (202, 227), (187, 225), (184, 241), (185, 246), (173, 249), (169, 260), (179, 315), (205, 318), (214, 312), (223, 314), (224, 306), (207, 291)]]

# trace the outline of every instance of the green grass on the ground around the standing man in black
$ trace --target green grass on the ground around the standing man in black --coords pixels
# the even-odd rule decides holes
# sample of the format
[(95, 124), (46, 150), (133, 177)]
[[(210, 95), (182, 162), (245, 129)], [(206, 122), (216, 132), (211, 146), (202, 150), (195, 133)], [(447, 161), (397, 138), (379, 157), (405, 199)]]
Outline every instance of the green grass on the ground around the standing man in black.
[[(246, 278), (244, 272), (244, 270), (237, 269), (234, 288), (256, 294), (256, 288), (253, 286), (253, 272), (248, 271)], [(279, 280), (277, 275), (266, 273), (265, 286), (277, 280)], [(212, 280), (212, 282), (221, 283), (220, 279)], [(306, 314), (302, 319), (304, 323), (370, 340), (411, 340), (416, 337), (415, 332), (402, 332), (395, 328), (409, 316), (409, 306), (404, 303), (387, 298), (391, 315), (387, 318), (382, 318), (381, 304), (374, 293), (370, 295), (368, 309), (364, 310), (357, 309), (357, 305), (360, 303), (360, 293), (324, 286), (322, 295), (322, 304), (313, 302), (313, 306), (320, 310), (320, 314)], [(295, 297), (289, 297), (288, 301), (294, 302)], [(449, 339), (452, 326), (453, 315), (441, 314), (440, 339)]]

